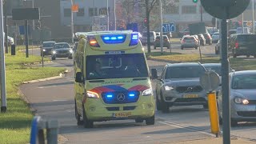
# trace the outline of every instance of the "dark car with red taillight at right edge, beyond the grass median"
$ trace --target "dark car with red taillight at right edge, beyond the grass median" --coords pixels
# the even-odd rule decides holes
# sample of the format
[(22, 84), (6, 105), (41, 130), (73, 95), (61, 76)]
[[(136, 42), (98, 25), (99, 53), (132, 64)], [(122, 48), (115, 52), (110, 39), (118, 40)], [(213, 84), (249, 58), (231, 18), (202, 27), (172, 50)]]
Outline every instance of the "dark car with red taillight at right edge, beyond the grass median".
[(234, 58), (239, 55), (256, 58), (256, 34), (238, 34), (234, 40), (230, 40), (230, 50)]

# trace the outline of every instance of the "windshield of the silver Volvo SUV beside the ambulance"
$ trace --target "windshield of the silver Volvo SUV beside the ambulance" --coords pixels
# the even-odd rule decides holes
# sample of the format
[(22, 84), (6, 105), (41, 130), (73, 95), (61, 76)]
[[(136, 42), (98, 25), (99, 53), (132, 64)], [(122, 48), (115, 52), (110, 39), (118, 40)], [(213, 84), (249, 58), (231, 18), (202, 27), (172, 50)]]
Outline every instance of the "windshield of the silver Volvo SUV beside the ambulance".
[(166, 70), (166, 79), (200, 78), (205, 73), (202, 66), (170, 66)]

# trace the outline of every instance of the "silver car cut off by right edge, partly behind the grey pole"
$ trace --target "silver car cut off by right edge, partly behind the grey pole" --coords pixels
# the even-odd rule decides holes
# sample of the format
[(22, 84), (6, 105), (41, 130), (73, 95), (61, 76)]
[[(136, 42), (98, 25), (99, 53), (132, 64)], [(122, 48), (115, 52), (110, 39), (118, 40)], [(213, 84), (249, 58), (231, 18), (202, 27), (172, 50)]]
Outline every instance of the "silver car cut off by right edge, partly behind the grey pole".
[[(219, 120), (222, 123), (222, 94), (218, 98)], [(230, 74), (231, 126), (238, 122), (256, 122), (256, 70)]]

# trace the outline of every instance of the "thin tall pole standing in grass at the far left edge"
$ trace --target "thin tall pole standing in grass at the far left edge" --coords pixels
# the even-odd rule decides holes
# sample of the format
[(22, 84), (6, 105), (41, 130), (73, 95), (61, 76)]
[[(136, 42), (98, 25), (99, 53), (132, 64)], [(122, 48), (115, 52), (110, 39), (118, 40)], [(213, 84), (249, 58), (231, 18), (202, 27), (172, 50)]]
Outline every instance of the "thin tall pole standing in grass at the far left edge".
[(2, 0), (0, 0), (0, 69), (1, 69), (1, 112), (5, 113), (7, 110), (6, 107), (6, 62), (5, 62), (5, 54), (4, 54), (4, 36), (3, 36), (3, 14), (2, 14)]

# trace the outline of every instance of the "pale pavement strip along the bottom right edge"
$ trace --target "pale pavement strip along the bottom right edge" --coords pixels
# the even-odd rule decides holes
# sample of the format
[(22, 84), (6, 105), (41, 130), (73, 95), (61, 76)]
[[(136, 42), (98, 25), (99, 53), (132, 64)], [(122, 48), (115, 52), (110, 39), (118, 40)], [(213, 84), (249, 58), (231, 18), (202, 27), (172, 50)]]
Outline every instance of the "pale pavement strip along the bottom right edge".
[[(172, 142), (172, 144), (222, 144), (222, 137), (210, 139), (198, 139), (183, 142)], [(256, 142), (248, 141), (240, 138), (231, 138), (231, 144), (255, 144)]]

